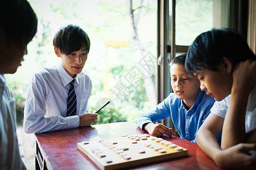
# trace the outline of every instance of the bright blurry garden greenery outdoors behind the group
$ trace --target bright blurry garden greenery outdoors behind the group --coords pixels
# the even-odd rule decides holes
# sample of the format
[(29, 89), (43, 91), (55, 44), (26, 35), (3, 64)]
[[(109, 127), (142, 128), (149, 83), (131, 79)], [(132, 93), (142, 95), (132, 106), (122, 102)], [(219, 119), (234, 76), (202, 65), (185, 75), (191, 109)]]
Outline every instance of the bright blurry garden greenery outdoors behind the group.
[[(135, 121), (139, 114), (155, 106), (148, 100), (142, 75), (139, 77), (141, 83), (136, 87), (128, 84), (124, 77), (134, 67), (140, 68), (139, 62), (143, 57), (139, 57), (134, 52), (133, 25), (127, 3), (133, 2), (133, 14), (139, 15), (137, 33), (143, 54), (150, 53), (156, 61), (156, 0), (144, 0), (142, 6), (139, 0), (28, 0), (28, 2), (38, 16), (38, 32), (28, 44), (28, 55), (24, 56), (25, 61), (22, 62), (22, 66), (14, 75), (6, 75), (11, 94), (16, 99), (18, 124), (23, 120), (24, 101), (32, 75), (43, 67), (60, 62), (53, 52), (52, 39), (59, 28), (68, 24), (79, 25), (88, 33), (91, 41), (88, 60), (83, 69), (93, 83), (89, 112), (95, 112), (98, 109), (96, 103), (103, 98), (113, 101), (112, 105), (98, 113), (96, 124), (122, 120)], [(205, 24), (212, 23), (212, 0), (176, 2), (176, 44), (189, 45), (196, 35), (212, 27), (210, 24)], [(199, 15), (200, 20), (196, 21), (193, 18), (195, 16), (189, 12)], [(197, 25), (196, 28), (189, 29), (193, 25)], [(154, 66), (152, 66), (151, 79), (154, 80), (156, 63), (152, 65)], [(120, 83), (125, 84), (129, 89), (125, 96), (113, 91), (113, 88)]]

